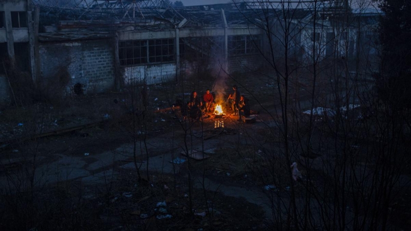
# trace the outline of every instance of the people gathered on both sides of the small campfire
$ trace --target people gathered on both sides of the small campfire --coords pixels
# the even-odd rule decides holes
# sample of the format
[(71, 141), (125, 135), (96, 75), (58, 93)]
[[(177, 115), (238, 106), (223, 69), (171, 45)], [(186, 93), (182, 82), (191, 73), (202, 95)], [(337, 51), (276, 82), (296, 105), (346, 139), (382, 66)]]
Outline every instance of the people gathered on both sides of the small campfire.
[[(240, 95), (236, 85), (233, 86), (233, 93), (229, 95), (226, 104), (239, 116), (238, 121), (242, 121), (241, 117), (247, 118), (251, 114), (248, 99), (244, 95)], [(202, 99), (197, 94), (197, 91), (193, 91), (190, 95), (190, 101), (181, 108), (181, 113), (184, 118), (189, 117), (196, 120), (201, 118), (202, 112), (214, 112), (214, 106), (214, 96), (210, 89), (206, 90)]]

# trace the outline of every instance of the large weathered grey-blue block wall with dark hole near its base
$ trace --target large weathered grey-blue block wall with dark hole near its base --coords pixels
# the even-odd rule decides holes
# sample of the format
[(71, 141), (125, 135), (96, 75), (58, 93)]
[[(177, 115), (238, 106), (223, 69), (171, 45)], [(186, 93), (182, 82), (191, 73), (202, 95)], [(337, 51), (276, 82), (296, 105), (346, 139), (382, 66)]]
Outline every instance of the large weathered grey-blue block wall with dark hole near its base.
[(114, 86), (114, 52), (109, 40), (51, 43), (40, 45), (42, 81), (55, 78), (61, 67), (70, 74), (67, 90), (83, 85), (84, 93), (107, 91)]

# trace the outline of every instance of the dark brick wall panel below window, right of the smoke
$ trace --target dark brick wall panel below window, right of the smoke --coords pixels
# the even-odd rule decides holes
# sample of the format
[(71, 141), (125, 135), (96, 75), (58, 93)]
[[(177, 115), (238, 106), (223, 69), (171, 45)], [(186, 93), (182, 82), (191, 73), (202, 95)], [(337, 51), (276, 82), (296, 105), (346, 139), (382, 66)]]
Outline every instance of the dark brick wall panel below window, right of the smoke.
[(230, 73), (233, 72), (250, 72), (262, 68), (264, 60), (260, 54), (237, 55), (228, 57), (228, 67)]

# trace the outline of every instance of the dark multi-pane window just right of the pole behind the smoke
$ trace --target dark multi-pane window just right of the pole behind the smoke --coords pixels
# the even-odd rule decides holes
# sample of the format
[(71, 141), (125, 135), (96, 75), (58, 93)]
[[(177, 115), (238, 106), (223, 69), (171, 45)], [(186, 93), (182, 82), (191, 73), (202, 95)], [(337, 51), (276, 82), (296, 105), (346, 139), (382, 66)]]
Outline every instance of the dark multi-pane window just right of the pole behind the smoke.
[(228, 36), (228, 54), (255, 54), (259, 52), (261, 44), (260, 35), (234, 35)]

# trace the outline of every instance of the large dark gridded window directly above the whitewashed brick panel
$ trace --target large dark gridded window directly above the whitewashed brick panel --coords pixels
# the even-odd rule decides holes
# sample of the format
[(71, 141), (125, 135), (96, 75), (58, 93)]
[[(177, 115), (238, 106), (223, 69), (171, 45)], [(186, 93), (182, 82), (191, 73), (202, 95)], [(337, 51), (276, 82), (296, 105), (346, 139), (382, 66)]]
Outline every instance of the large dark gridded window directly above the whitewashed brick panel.
[(174, 39), (119, 42), (121, 65), (174, 61)]

